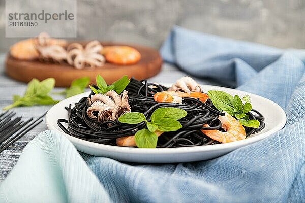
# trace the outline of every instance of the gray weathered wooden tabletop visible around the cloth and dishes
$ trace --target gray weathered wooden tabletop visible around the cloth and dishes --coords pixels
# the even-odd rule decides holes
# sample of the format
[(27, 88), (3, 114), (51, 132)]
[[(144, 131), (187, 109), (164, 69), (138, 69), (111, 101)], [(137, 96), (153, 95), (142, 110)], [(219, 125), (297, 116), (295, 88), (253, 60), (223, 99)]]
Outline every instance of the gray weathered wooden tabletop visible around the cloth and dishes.
[[(12, 103), (12, 95), (19, 94), (23, 95), (26, 84), (17, 82), (6, 76), (4, 72), (4, 59), (5, 55), (0, 54), (0, 112), (1, 109)], [(159, 83), (172, 83), (178, 78), (185, 76), (186, 74), (179, 71), (176, 67), (164, 64), (161, 73), (157, 76), (150, 78), (149, 81)], [(210, 80), (197, 80), (201, 84), (216, 84)], [(220, 85), (220, 84), (218, 84)], [(54, 92), (59, 92), (63, 88), (55, 88)], [(62, 96), (55, 96), (56, 99), (63, 99)], [(22, 116), (24, 119), (29, 117), (39, 117), (45, 113), (51, 106), (33, 106), (33, 107), (18, 107), (13, 110), (17, 112), (18, 116)], [(0, 153), (0, 182), (9, 174), (12, 168), (15, 166), (23, 148), (39, 134), (40, 132), (47, 129), (44, 122), (40, 123), (36, 128), (29, 131), (23, 138), (15, 142), (8, 149)]]

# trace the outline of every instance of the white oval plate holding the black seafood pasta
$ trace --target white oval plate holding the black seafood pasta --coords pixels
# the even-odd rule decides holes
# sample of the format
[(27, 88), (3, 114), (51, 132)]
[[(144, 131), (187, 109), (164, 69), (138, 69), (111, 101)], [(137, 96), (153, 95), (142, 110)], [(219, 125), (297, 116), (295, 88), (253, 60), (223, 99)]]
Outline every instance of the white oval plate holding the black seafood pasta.
[[(170, 84), (165, 85), (170, 86)], [(253, 108), (258, 110), (265, 117), (266, 127), (259, 133), (253, 134), (245, 140), (217, 145), (157, 149), (103, 145), (72, 137), (63, 132), (56, 123), (59, 118), (67, 119), (66, 106), (77, 103), (82, 97), (88, 96), (89, 92), (72, 96), (54, 105), (46, 114), (46, 124), (50, 130), (63, 133), (79, 151), (87, 154), (138, 163), (174, 163), (208, 160), (222, 156), (239, 147), (255, 143), (270, 136), (272, 133), (282, 129), (286, 123), (286, 114), (284, 110), (269, 99), (244, 91), (218, 86), (202, 85), (202, 88), (205, 92), (208, 90), (221, 90), (232, 95), (237, 94), (240, 97), (250, 95)]]

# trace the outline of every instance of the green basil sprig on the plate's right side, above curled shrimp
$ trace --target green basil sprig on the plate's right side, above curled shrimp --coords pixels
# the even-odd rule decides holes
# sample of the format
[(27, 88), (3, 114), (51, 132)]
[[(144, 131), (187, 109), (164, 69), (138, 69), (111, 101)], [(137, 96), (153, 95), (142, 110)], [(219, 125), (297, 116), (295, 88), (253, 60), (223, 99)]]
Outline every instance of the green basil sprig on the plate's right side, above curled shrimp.
[(231, 116), (235, 116), (241, 125), (246, 127), (258, 128), (260, 123), (258, 120), (249, 119), (249, 115), (246, 113), (252, 110), (250, 96), (246, 95), (242, 98), (245, 101), (243, 104), (242, 100), (238, 95), (234, 97), (223, 91), (210, 90), (207, 92), (212, 103), (219, 111), (226, 111)]

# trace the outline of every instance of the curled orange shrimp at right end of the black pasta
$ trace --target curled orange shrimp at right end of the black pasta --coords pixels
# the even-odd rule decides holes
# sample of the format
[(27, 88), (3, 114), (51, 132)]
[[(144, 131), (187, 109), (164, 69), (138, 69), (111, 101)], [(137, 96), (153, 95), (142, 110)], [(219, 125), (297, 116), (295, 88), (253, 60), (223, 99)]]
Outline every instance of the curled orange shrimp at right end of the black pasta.
[[(219, 130), (201, 130), (206, 136), (213, 140), (221, 143), (234, 142), (237, 140), (243, 140), (246, 138), (245, 128), (239, 123), (237, 119), (228, 114), (227, 112), (224, 116), (219, 116), (218, 120), (221, 122), (221, 127), (226, 131), (222, 132)], [(203, 127), (209, 127), (208, 124), (204, 124)]]

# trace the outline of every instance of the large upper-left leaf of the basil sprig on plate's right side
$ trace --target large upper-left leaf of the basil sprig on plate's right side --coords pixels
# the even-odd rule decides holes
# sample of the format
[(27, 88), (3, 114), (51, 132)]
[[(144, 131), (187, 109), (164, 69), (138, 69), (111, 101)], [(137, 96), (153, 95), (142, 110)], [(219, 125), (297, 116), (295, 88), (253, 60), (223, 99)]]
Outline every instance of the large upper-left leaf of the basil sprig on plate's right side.
[(212, 103), (214, 104), (214, 106), (219, 111), (228, 110), (230, 113), (226, 111), (227, 113), (234, 115), (234, 98), (232, 95), (223, 91), (215, 91), (215, 90), (210, 90), (207, 92), (207, 94), (211, 99)]

